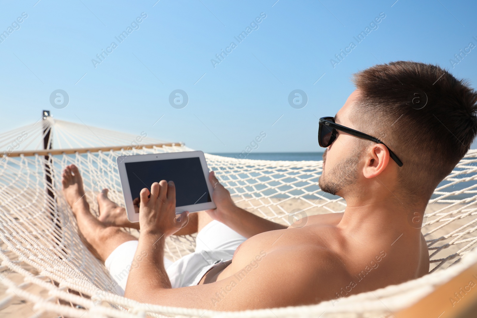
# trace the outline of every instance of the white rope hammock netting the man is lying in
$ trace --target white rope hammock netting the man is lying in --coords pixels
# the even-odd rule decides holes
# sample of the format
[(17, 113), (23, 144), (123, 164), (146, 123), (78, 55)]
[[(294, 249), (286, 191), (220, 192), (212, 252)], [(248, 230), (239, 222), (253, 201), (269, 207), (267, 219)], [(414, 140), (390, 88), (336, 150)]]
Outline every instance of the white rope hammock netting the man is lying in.
[[(477, 260), (476, 250), (471, 251), (477, 242), (477, 150), (470, 150), (429, 201), (422, 233), (431, 270), (424, 277), (311, 306), (217, 312), (141, 304), (108, 291), (114, 280), (78, 236), (76, 220), (61, 191), (62, 169), (68, 164), (79, 167), (86, 198), (97, 215), (95, 197), (103, 188), (110, 189), (110, 198), (124, 206), (117, 156), (192, 149), (51, 117), (35, 125), (0, 134), (0, 146), (5, 148), (24, 132), (28, 138), (22, 139), (22, 151), (33, 144), (33, 151), (40, 149), (45, 136), (50, 137), (47, 149), (53, 141), (61, 149), (129, 146), (72, 154), (54, 154), (54, 148), (46, 156), (8, 151), (9, 156), (0, 158), (2, 317), (383, 317), (410, 306)], [(56, 137), (51, 138), (49, 132)], [(248, 160), (212, 154), (206, 154), (206, 159), (237, 205), (269, 220), (290, 224), (301, 218), (306, 222), (310, 215), (343, 212), (346, 207), (342, 198), (320, 190), (321, 161)], [(166, 243), (166, 256), (176, 260), (194, 251), (195, 235), (171, 236)]]

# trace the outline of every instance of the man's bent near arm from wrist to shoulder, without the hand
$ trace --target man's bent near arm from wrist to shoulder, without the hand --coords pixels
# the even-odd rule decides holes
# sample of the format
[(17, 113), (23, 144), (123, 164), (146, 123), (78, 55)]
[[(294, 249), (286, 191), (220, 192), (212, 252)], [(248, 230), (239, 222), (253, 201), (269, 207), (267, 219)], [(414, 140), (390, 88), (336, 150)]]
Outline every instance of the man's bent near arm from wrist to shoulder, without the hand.
[[(171, 307), (245, 310), (312, 304), (319, 302), (320, 290), (329, 294), (328, 282), (316, 283), (320, 281), (317, 276), (321, 272), (313, 265), (316, 259), (309, 257), (314, 251), (301, 249), (288, 249), (283, 254), (257, 252), (247, 260), (246, 267), (227, 278), (204, 285), (171, 288), (163, 253), (160, 253), (164, 240), (159, 237), (141, 233), (135, 257), (141, 252), (144, 255), (144, 251), (147, 256), (129, 273), (125, 297)], [(327, 276), (332, 279), (330, 275), (322, 277), (327, 280)]]

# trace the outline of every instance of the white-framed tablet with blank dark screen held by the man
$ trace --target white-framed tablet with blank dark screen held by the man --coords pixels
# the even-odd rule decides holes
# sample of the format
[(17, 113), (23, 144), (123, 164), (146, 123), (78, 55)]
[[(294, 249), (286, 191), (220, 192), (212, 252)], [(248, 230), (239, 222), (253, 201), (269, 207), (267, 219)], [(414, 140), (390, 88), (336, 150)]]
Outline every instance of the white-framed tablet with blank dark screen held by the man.
[(216, 208), (206, 158), (201, 151), (119, 156), (116, 162), (131, 222), (139, 222), (133, 201), (139, 198), (143, 188), (151, 191), (151, 185), (161, 180), (172, 180), (176, 185), (176, 213)]

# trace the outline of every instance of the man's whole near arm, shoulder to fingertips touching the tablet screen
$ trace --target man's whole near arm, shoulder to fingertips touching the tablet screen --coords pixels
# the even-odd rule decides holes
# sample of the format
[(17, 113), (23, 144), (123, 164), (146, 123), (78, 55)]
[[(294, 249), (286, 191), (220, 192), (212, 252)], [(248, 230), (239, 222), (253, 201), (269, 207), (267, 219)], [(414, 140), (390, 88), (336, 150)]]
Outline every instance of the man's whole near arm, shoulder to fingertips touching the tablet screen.
[(125, 297), (162, 306), (212, 310), (274, 308), (330, 299), (330, 286), (347, 281), (330, 275), (336, 273), (336, 262), (330, 261), (333, 256), (328, 249), (313, 241), (297, 245), (283, 231), (281, 245), (258, 241), (251, 249), (236, 253), (229, 266), (240, 265), (231, 267), (233, 275), (205, 285), (171, 288), (163, 257), (165, 238), (177, 231), (174, 183), (154, 183), (150, 199), (148, 195), (147, 189), (141, 191), (141, 233), (135, 253), (138, 265), (129, 272)]

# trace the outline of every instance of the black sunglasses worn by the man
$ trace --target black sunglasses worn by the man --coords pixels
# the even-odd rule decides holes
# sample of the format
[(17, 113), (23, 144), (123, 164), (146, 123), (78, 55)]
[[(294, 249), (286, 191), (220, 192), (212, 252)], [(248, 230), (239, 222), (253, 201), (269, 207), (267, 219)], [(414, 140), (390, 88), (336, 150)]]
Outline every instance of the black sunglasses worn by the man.
[[(336, 131), (342, 131), (345, 133), (349, 133), (350, 135), (371, 140), (376, 144), (384, 144), (378, 138), (374, 138), (366, 133), (358, 132), (357, 130), (342, 126), (338, 123), (334, 122), (334, 117), (321, 117), (320, 118), (320, 126), (318, 128), (318, 143), (321, 147), (326, 148), (330, 144), (332, 144), (336, 140)], [(399, 158), (389, 149), (388, 146), (384, 144), (386, 148), (389, 150), (389, 155), (391, 158), (396, 162), (396, 164), (400, 167), (403, 166), (403, 162), (399, 160)]]

